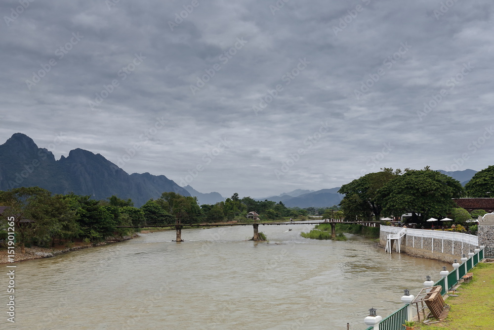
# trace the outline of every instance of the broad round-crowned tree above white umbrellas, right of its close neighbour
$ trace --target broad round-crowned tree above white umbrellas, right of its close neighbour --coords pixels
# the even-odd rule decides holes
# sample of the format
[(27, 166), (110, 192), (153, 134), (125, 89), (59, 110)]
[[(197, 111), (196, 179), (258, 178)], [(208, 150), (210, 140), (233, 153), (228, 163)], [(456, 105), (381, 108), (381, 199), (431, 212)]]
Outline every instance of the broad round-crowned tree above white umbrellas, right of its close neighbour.
[(406, 170), (379, 189), (379, 202), (386, 215), (412, 213), (413, 222), (451, 213), (452, 198), (464, 194), (461, 184), (453, 178), (431, 170)]

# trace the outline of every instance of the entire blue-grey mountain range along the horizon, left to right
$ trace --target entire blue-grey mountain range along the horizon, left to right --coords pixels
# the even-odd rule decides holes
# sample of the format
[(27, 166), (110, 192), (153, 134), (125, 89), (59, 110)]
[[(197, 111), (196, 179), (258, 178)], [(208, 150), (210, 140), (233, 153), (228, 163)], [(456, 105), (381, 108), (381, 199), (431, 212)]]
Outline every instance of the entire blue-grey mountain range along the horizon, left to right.
[[(477, 173), (471, 169), (439, 172), (458, 180), (463, 186)], [(200, 205), (225, 200), (218, 192), (201, 193), (190, 186), (182, 188), (164, 175), (129, 175), (102, 155), (80, 148), (71, 150), (68, 157), (55, 160), (51, 151), (39, 148), (28, 136), (15, 133), (0, 145), (0, 190), (35, 186), (53, 193), (73, 191), (94, 199), (106, 199), (112, 195), (131, 198), (136, 207), (151, 198), (159, 198), (165, 191), (197, 196)], [(282, 201), (287, 207), (329, 207), (339, 204), (343, 198), (338, 190), (339, 187), (317, 191), (296, 189), (278, 196), (254, 199)]]

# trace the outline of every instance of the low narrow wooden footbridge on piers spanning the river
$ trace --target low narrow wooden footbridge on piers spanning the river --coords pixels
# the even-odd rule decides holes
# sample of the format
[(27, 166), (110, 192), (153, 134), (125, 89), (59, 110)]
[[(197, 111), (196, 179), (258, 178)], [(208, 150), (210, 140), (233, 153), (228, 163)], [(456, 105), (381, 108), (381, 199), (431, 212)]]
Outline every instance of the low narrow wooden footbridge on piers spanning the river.
[(252, 240), (261, 240), (259, 238), (259, 225), (262, 226), (283, 226), (283, 225), (320, 225), (329, 224), (331, 225), (331, 237), (336, 237), (336, 224), (358, 224), (368, 227), (376, 227), (380, 222), (375, 221), (342, 221), (337, 219), (324, 219), (324, 220), (313, 220), (313, 221), (287, 221), (287, 222), (253, 222), (253, 223), (212, 223), (212, 224), (180, 224), (175, 225), (162, 225), (162, 226), (117, 226), (117, 228), (165, 228), (165, 227), (175, 227), (177, 231), (176, 242), (183, 242), (182, 239), (182, 229), (184, 227), (230, 227), (230, 226), (252, 226), (254, 229), (254, 236)]

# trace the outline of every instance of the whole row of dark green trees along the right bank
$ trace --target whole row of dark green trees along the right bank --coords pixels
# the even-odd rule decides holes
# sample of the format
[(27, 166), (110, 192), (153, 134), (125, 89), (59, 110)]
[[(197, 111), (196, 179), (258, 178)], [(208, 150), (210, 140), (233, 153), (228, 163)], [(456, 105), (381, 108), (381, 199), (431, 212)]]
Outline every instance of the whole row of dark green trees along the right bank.
[[(346, 220), (377, 220), (382, 217), (411, 213), (412, 223), (427, 219), (453, 217), (464, 222), (486, 212), (469, 214), (458, 208), (452, 198), (492, 197), (494, 192), (494, 166), (489, 166), (462, 187), (450, 176), (431, 170), (381, 168), (343, 185), (338, 190), (345, 194), (340, 206)], [(481, 214), (482, 213), (482, 214)]]

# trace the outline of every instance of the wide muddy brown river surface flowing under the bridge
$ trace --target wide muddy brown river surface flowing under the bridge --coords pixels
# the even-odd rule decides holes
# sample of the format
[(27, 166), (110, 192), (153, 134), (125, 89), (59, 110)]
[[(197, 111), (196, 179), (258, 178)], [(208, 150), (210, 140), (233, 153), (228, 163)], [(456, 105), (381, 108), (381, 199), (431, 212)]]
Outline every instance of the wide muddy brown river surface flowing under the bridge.
[(359, 236), (300, 236), (311, 228), (259, 226), (269, 243), (245, 241), (252, 226), (183, 230), (178, 244), (174, 231), (157, 232), (17, 263), (15, 325), (2, 307), (0, 329), (332, 330), (349, 322), (360, 330), (369, 308), (384, 318), (402, 306), (404, 289), (416, 295), (426, 275), (439, 279), (438, 261), (389, 255)]

